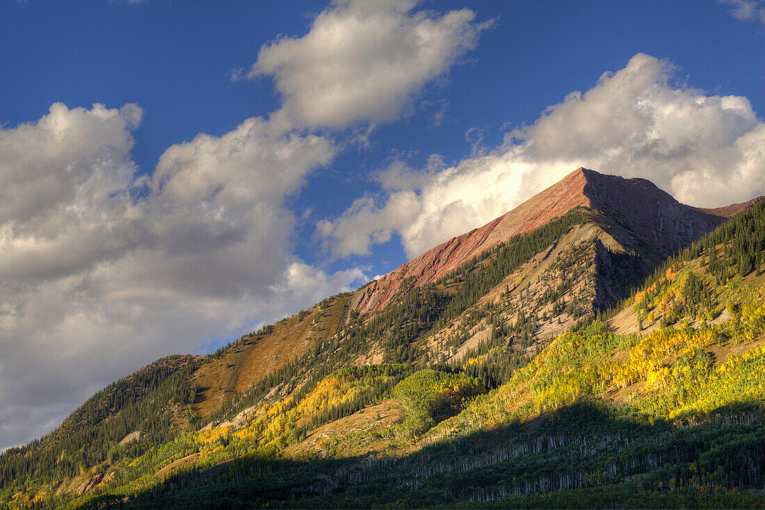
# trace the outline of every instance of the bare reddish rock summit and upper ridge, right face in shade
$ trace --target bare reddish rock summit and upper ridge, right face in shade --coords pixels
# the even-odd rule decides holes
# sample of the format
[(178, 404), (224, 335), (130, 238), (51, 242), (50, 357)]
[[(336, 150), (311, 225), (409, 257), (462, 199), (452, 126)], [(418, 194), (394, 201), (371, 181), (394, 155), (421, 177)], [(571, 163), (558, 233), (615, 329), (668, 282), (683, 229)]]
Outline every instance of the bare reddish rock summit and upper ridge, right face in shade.
[[(601, 210), (662, 251), (687, 245), (723, 219), (685, 206), (645, 179), (579, 168), (492, 222), (436, 246), (356, 292), (353, 308), (381, 310), (408, 288), (438, 280), (475, 255), (530, 232), (576, 206)], [(408, 284), (402, 282), (410, 279)]]

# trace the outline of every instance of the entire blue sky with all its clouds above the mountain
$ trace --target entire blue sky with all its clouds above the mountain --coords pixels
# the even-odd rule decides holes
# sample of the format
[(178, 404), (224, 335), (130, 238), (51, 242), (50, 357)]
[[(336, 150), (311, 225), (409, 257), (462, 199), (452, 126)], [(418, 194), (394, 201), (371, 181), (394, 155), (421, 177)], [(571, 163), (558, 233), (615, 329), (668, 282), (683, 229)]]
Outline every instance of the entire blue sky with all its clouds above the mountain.
[(576, 167), (765, 193), (760, 1), (0, 9), (0, 448)]

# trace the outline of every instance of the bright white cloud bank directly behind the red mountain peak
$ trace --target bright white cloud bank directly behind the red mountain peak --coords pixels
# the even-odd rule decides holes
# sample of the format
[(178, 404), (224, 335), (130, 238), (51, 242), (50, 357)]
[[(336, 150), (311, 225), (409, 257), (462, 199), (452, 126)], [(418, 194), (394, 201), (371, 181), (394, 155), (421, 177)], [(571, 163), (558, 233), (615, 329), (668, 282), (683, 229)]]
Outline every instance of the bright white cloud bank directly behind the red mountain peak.
[(765, 124), (748, 99), (707, 96), (673, 82), (666, 60), (637, 54), (585, 93), (569, 94), (500, 147), (451, 167), (398, 164), (317, 236), (335, 257), (365, 255), (397, 232), (414, 257), (506, 213), (584, 166), (645, 177), (694, 206), (724, 206), (765, 193)]

